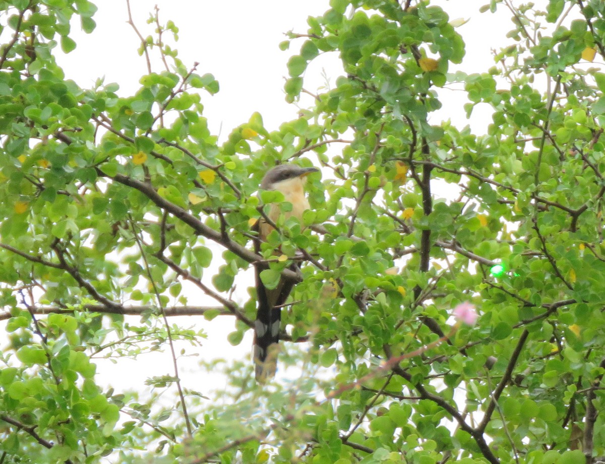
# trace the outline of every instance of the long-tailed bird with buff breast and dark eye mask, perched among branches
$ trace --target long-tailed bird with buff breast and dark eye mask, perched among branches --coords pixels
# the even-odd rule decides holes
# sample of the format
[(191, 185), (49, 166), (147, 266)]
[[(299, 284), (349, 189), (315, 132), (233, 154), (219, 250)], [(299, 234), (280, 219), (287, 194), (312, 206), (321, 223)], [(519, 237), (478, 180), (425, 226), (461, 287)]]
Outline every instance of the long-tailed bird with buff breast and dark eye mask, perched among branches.
[[(307, 175), (318, 172), (315, 167), (299, 167), (295, 164), (280, 164), (269, 170), (261, 182), (261, 190), (278, 190), (284, 195), (284, 201), (292, 204), (291, 211), (281, 211), (278, 203), (269, 207), (267, 217), (273, 224), (280, 216), (284, 219), (295, 217), (302, 221), (302, 213), (309, 209), (309, 201), (304, 194)], [(255, 251), (260, 252), (260, 242), (266, 240), (273, 226), (262, 218), (255, 225), (258, 238), (255, 240)], [(291, 269), (298, 270), (294, 263)], [(255, 264), (255, 276), (258, 298), (257, 319), (254, 323), (254, 352), (255, 376), (257, 382), (263, 383), (275, 376), (277, 355), (280, 350), (281, 306), (292, 291), (294, 282), (282, 277), (275, 288), (268, 289), (261, 280), (260, 273), (269, 269), (266, 263)]]

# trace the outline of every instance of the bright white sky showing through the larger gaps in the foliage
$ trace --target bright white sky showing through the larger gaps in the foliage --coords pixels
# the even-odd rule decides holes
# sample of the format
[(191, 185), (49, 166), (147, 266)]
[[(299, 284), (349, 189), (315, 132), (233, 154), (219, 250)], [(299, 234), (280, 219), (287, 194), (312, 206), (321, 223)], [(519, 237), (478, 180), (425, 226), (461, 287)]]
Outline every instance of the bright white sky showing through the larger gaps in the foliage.
[[(505, 34), (512, 28), (510, 14), (503, 6), (497, 15), (479, 14), (479, 7), (488, 2), (436, 2), (450, 13), (451, 19), (471, 19), (458, 29), (466, 42), (466, 57), (459, 66), (465, 72), (485, 72), (493, 65), (490, 49), (499, 49), (509, 43)], [(546, 1), (537, 0), (536, 3), (546, 4)], [(126, 3), (97, 0), (96, 4), (99, 7), (94, 16), (96, 30), (90, 35), (83, 34), (74, 24), (73, 37), (77, 48), (67, 56), (59, 56), (59, 64), (65, 70), (66, 79), (75, 80), (83, 88), (92, 87), (98, 77), (105, 76), (106, 83), (120, 84), (120, 95), (131, 95), (139, 88), (138, 81), (146, 72), (146, 62), (137, 53), (139, 39), (126, 24)], [(143, 36), (153, 33), (154, 26), (146, 24), (146, 19), (155, 4), (160, 8), (160, 21), (171, 19), (180, 28), (177, 43), (172, 43), (170, 34), (165, 39), (177, 48), (183, 63), (190, 67), (192, 63), (199, 62), (198, 74), (211, 72), (220, 82), (218, 94), (211, 96), (202, 92), (204, 116), (208, 118), (211, 132), (218, 134), (220, 131), (224, 140), (233, 127), (247, 121), (255, 111), (263, 115), (268, 130), (296, 117), (296, 106), (288, 105), (284, 100), (283, 85), (284, 76), (287, 76), (287, 60), (298, 52), (304, 39), (293, 42), (290, 50), (285, 52), (278, 48), (278, 44), (286, 40), (284, 33), (289, 30), (305, 33), (307, 17), (324, 13), (329, 8), (328, 0), (132, 0), (132, 13)], [(163, 69), (157, 54), (152, 64), (155, 71)], [(341, 69), (334, 55), (318, 60), (306, 73), (307, 89), (315, 91), (324, 85), (322, 68), (332, 83)], [(437, 124), (442, 118), (452, 118), (459, 127), (468, 124), (462, 109), (465, 93), (447, 92), (443, 97), (448, 98), (444, 102), (446, 109), (440, 115), (433, 115), (432, 122)], [(482, 133), (490, 121), (489, 112), (482, 114), (478, 109), (473, 118), (474, 129)], [(190, 303), (214, 305), (214, 301), (204, 298), (201, 292), (200, 300), (190, 299)], [(250, 352), (251, 330), (238, 347), (231, 347), (226, 341), (226, 335), (234, 329), (234, 320), (230, 317), (219, 317), (212, 322), (201, 317), (170, 318), (169, 321), (181, 326), (200, 324), (208, 332), (210, 338), (204, 347), (197, 350), (186, 346), (189, 353), (200, 351), (203, 357), (208, 352), (220, 353), (227, 358), (241, 359)], [(203, 381), (200, 384), (200, 379), (196, 378), (197, 359), (181, 358), (181, 373), (191, 373), (183, 376), (185, 387), (204, 393), (208, 383)], [(145, 390), (143, 382), (147, 376), (171, 374), (172, 368), (166, 352), (142, 356), (137, 363), (128, 360), (120, 360), (118, 364), (102, 362), (97, 372), (97, 381), (107, 382), (117, 391), (126, 388)]]

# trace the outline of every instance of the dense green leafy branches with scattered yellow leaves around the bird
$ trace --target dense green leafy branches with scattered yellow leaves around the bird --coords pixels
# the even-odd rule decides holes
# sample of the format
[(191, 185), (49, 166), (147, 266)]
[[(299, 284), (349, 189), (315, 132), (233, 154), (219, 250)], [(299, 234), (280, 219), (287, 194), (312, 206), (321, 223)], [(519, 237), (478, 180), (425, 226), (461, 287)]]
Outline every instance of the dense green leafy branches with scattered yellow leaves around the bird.
[[(149, 60), (136, 94), (83, 89), (53, 53), (76, 46), (76, 20), (93, 30), (96, 7), (0, 1), (0, 463), (605, 455), (605, 74), (590, 64), (605, 59), (605, 3), (538, 3), (483, 8), (508, 8), (512, 30), (495, 65), (468, 75), (448, 73), (465, 49), (442, 8), (331, 0), (283, 48), (299, 49), (290, 101), (312, 93), (319, 54), (342, 62), (333, 88), (279, 129), (254, 114), (218, 143), (202, 106), (211, 70), (159, 36), (140, 53), (160, 51), (165, 69)], [(451, 85), (468, 114), (492, 108), (486, 134), (431, 118)], [(250, 226), (280, 195), (256, 192), (284, 161), (322, 173), (305, 224), (278, 224), (261, 257)], [(227, 314), (240, 343), (256, 311), (244, 271), (267, 259), (268, 286), (297, 279), (297, 250), (279, 361), (296, 375), (258, 387), (242, 359), (211, 366), (225, 370), (218, 392), (179, 378), (174, 342), (194, 352), (203, 334), (170, 317)], [(189, 305), (200, 294), (214, 306)], [(464, 301), (474, 327), (450, 318)], [(155, 349), (175, 370), (148, 379), (151, 398), (100, 386), (94, 358)]]

